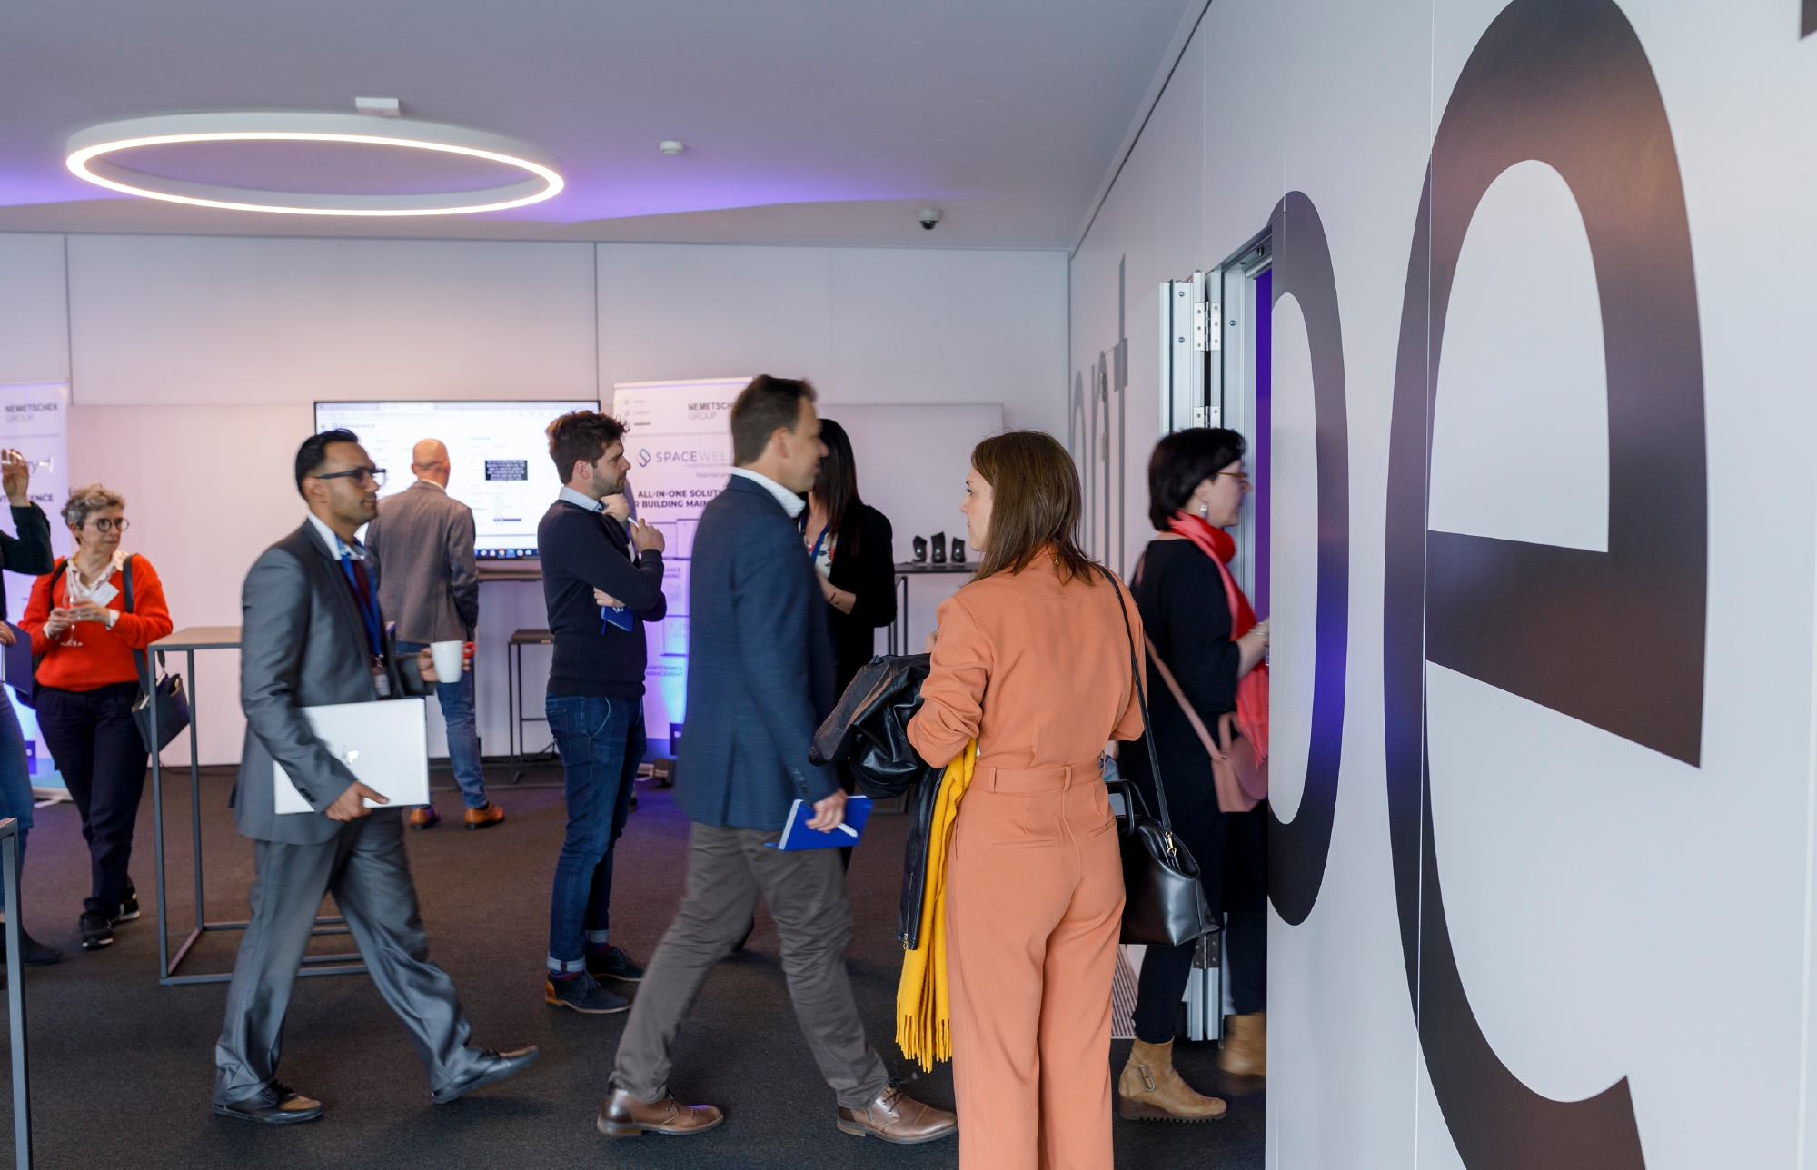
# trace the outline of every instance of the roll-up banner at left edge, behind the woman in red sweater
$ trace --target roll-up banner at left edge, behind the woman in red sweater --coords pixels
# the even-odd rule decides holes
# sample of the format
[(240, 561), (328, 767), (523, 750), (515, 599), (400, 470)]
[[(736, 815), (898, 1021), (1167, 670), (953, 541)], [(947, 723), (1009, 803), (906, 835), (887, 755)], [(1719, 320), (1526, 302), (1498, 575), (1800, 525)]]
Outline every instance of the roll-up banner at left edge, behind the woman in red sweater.
[[(51, 550), (56, 556), (69, 554), (69, 529), (58, 516), (64, 500), (69, 498), (69, 383), (67, 382), (24, 382), (0, 385), (0, 449), (15, 449), (25, 456), (31, 471), (31, 483), (25, 489), (31, 501), (44, 509), (51, 520)], [(13, 509), (0, 509), (0, 529), (16, 536)], [(5, 616), (18, 623), (25, 614), (25, 601), (31, 600), (31, 585), (36, 578), (29, 572), (0, 572), (5, 581)], [(13, 658), (18, 661), (18, 656)], [(13, 690), (16, 679), (5, 679), (5, 698), (18, 712), (20, 729), (25, 732), (25, 761), (31, 768), (31, 787), (49, 788), (44, 796), (58, 796), (64, 778), (51, 761), (51, 752), (38, 730), (38, 716), (31, 707), (18, 701)]]

